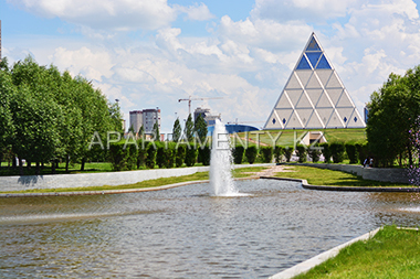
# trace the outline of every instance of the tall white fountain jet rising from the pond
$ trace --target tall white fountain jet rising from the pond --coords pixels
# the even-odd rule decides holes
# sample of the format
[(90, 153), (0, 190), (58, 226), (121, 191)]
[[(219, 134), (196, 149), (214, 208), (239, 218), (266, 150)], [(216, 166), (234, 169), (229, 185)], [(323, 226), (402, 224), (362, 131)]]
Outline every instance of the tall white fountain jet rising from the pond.
[(216, 119), (210, 160), (210, 184), (217, 196), (239, 195), (232, 179), (233, 160), (229, 139), (224, 124)]

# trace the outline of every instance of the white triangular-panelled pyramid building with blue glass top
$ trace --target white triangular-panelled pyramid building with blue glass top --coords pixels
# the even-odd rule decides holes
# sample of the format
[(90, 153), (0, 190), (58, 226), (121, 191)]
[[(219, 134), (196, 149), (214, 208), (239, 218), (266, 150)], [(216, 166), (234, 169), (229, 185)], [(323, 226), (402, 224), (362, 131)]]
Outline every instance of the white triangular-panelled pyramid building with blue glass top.
[(346, 87), (312, 33), (264, 129), (364, 127)]

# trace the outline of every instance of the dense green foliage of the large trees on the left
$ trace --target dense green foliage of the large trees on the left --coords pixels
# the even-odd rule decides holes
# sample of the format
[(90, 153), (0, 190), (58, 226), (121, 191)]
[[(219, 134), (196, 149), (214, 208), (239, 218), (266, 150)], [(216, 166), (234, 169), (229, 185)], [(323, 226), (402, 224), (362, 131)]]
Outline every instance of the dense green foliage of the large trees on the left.
[(40, 66), (31, 56), (10, 68), (3, 60), (0, 96), (0, 154), (11, 147), (38, 165), (62, 158), (83, 168), (94, 132), (106, 139), (107, 131), (122, 131), (119, 107), (91, 82)]

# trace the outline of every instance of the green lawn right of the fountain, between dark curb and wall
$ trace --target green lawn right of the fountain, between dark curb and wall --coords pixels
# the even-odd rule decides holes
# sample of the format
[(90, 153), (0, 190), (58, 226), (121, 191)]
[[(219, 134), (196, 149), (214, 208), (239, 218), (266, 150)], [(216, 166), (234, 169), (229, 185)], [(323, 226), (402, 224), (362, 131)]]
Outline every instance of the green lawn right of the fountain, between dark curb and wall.
[(380, 182), (372, 180), (364, 180), (355, 174), (332, 171), (326, 169), (318, 169), (303, 165), (285, 165), (286, 169), (293, 172), (279, 172), (275, 175), (279, 178), (303, 179), (312, 185), (324, 186), (358, 186), (358, 187), (379, 187), (379, 186), (393, 186), (407, 187), (409, 184), (396, 184), (390, 182)]

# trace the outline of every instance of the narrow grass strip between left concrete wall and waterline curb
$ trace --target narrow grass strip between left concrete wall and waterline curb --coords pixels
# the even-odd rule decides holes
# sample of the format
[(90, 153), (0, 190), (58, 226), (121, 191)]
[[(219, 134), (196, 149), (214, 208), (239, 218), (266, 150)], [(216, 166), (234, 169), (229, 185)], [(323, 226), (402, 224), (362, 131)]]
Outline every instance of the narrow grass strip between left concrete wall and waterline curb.
[[(259, 172), (264, 167), (251, 167), (251, 168), (242, 168), (233, 170), (233, 178), (249, 178), (252, 176), (254, 172)], [(90, 187), (63, 187), (63, 189), (36, 189), (36, 190), (25, 190), (25, 191), (8, 191), (0, 192), (2, 194), (11, 194), (11, 193), (56, 193), (56, 192), (83, 192), (83, 191), (104, 191), (104, 190), (125, 190), (125, 189), (144, 189), (144, 187), (157, 187), (168, 184), (175, 184), (180, 182), (189, 182), (189, 181), (200, 181), (208, 180), (209, 172), (197, 172), (190, 175), (182, 176), (174, 176), (174, 178), (162, 178), (156, 180), (146, 180), (134, 184), (125, 184), (118, 186), (90, 186)]]

